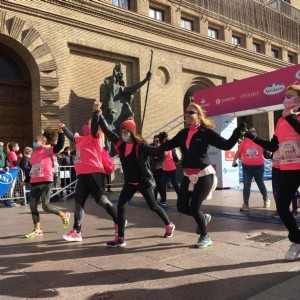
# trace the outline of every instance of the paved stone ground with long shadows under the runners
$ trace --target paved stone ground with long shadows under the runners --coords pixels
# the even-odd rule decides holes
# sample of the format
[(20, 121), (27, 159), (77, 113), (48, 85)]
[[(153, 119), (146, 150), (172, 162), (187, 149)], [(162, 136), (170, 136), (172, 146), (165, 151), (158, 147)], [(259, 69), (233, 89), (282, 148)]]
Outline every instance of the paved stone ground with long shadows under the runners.
[[(116, 249), (105, 246), (113, 224), (92, 199), (79, 243), (62, 240), (61, 222), (50, 214), (41, 215), (44, 236), (25, 239), (29, 208), (1, 208), (0, 299), (299, 299), (300, 257), (283, 259), (290, 243), (270, 218), (274, 203), (263, 209), (253, 191), (251, 211), (240, 213), (240, 190), (216, 191), (204, 205), (214, 243), (199, 250), (194, 221), (176, 212), (173, 192), (169, 199), (173, 238), (162, 238), (161, 220), (137, 195), (127, 208), (127, 247)], [(72, 200), (56, 204), (73, 211)]]

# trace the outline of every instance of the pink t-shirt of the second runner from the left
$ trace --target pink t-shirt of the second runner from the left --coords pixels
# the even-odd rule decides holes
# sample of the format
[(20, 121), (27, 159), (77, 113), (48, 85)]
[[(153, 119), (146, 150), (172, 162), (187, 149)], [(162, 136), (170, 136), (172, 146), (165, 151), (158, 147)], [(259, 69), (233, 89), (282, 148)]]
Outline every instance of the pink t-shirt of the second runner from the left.
[(76, 158), (75, 171), (76, 174), (92, 174), (104, 173), (102, 164), (102, 143), (100, 135), (93, 138), (91, 134), (87, 136), (75, 137)]

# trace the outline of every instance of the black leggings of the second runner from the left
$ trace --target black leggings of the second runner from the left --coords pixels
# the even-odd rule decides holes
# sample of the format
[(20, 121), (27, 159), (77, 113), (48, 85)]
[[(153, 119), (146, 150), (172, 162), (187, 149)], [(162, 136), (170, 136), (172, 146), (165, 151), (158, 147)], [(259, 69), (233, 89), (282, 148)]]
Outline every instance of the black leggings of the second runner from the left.
[(84, 218), (84, 205), (88, 195), (91, 193), (96, 203), (102, 206), (117, 224), (117, 213), (112, 203), (103, 195), (103, 177), (102, 173), (81, 174), (78, 175), (78, 182), (75, 191), (75, 218), (73, 228), (81, 231)]

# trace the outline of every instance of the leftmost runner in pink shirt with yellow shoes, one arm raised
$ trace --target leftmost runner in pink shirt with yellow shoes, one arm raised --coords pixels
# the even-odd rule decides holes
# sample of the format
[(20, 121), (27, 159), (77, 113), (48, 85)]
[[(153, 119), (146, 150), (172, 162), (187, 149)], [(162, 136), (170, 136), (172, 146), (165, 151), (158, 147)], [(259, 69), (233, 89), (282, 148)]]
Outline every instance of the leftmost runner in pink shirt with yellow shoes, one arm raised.
[(70, 220), (69, 212), (62, 212), (59, 208), (50, 205), (50, 195), (52, 193), (53, 181), (53, 156), (59, 153), (64, 146), (65, 135), (62, 128), (65, 125), (60, 123), (58, 129), (57, 144), (51, 147), (46, 146), (47, 138), (37, 135), (33, 141), (33, 152), (30, 158), (30, 184), (29, 193), (30, 211), (34, 229), (25, 235), (26, 238), (33, 238), (43, 235), (40, 223), (40, 215), (37, 209), (41, 199), (44, 211), (58, 215), (63, 222), (63, 228), (67, 228)]

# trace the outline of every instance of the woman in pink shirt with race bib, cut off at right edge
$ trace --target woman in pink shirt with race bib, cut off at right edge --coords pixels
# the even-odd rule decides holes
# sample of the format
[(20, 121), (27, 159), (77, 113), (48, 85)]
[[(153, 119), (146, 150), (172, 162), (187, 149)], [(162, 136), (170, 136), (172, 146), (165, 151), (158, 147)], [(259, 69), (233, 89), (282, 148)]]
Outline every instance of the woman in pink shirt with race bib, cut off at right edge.
[(251, 132), (246, 132), (245, 136), (271, 152), (279, 149), (280, 182), (276, 207), (292, 242), (285, 259), (295, 260), (300, 254), (300, 229), (290, 211), (290, 205), (300, 186), (300, 85), (288, 86), (283, 106), (285, 109), (282, 118), (276, 124), (271, 141), (259, 138)]

